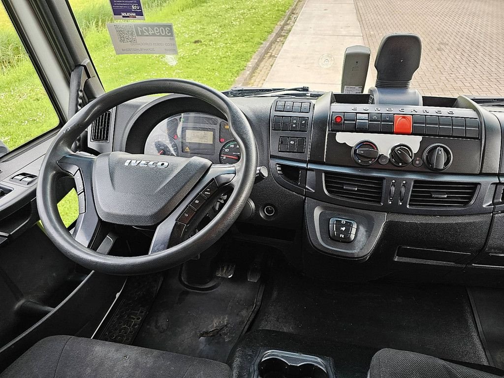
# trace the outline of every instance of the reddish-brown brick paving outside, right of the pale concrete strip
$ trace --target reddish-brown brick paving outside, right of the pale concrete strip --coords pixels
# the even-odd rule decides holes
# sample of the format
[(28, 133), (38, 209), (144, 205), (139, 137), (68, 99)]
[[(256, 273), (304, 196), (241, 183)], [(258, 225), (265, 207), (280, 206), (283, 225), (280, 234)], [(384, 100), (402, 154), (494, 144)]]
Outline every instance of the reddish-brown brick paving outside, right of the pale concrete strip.
[(412, 87), (423, 95), (504, 95), (504, 0), (355, 0), (355, 6), (371, 61), (385, 34), (422, 38)]

